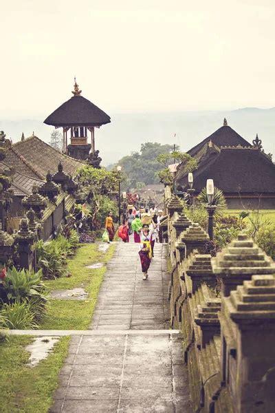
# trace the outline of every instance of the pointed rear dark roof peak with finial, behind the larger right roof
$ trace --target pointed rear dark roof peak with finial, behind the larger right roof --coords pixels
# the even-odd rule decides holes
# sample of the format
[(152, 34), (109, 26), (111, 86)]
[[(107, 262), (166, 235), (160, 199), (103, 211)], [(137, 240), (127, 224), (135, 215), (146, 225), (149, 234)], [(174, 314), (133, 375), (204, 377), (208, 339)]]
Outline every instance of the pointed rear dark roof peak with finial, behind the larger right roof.
[(195, 156), (196, 153), (203, 147), (203, 145), (206, 144), (206, 142), (212, 141), (214, 145), (217, 145), (217, 147), (222, 147), (222, 146), (238, 146), (241, 145), (243, 147), (252, 147), (252, 145), (245, 140), (244, 138), (241, 137), (241, 135), (237, 134), (234, 129), (230, 126), (222, 126), (217, 131), (214, 131), (214, 133), (208, 138), (202, 140), (198, 145), (195, 147), (192, 147), (187, 153), (191, 156)]

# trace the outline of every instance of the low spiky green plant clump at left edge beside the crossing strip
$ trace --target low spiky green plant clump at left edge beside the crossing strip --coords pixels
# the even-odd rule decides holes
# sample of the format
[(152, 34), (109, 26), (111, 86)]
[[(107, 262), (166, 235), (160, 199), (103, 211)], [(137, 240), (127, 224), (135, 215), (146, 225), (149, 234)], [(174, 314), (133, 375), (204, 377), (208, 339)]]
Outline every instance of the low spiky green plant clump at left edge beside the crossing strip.
[(38, 327), (34, 317), (35, 315), (27, 301), (3, 304), (0, 310), (0, 328), (17, 330), (29, 328), (32, 330)]

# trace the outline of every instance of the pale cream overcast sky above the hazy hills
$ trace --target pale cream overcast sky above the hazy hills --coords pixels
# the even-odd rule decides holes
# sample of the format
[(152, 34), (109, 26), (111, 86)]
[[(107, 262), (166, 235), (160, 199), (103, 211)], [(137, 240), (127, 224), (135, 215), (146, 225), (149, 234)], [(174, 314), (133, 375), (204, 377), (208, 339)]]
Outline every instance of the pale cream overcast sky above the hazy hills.
[(274, 0), (1, 1), (1, 118), (273, 107)]

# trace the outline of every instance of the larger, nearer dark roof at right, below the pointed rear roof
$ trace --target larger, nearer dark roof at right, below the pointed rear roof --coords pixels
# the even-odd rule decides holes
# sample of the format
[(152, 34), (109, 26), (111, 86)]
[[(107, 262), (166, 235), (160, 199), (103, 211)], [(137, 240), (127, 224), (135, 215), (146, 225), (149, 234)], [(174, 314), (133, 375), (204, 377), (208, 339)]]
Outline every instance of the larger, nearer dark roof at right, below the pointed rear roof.
[[(177, 184), (187, 189), (188, 173), (181, 173), (181, 167), (178, 177)], [(206, 187), (209, 178), (225, 193), (275, 192), (275, 166), (257, 148), (211, 148), (193, 171), (193, 178), (198, 192)]]

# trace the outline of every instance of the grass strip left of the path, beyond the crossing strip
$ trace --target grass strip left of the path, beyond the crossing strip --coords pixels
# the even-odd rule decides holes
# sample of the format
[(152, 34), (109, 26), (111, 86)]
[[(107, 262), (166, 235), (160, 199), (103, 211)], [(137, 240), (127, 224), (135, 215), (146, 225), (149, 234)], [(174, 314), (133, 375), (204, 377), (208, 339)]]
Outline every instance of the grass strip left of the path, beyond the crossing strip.
[(106, 266), (97, 269), (86, 268), (96, 262), (107, 263), (115, 249), (111, 245), (106, 253), (98, 251), (98, 244), (81, 244), (67, 268), (71, 277), (61, 277), (47, 281), (50, 290), (85, 288), (85, 301), (50, 299), (50, 310), (41, 328), (45, 330), (87, 330), (94, 313), (98, 291), (106, 271)]

